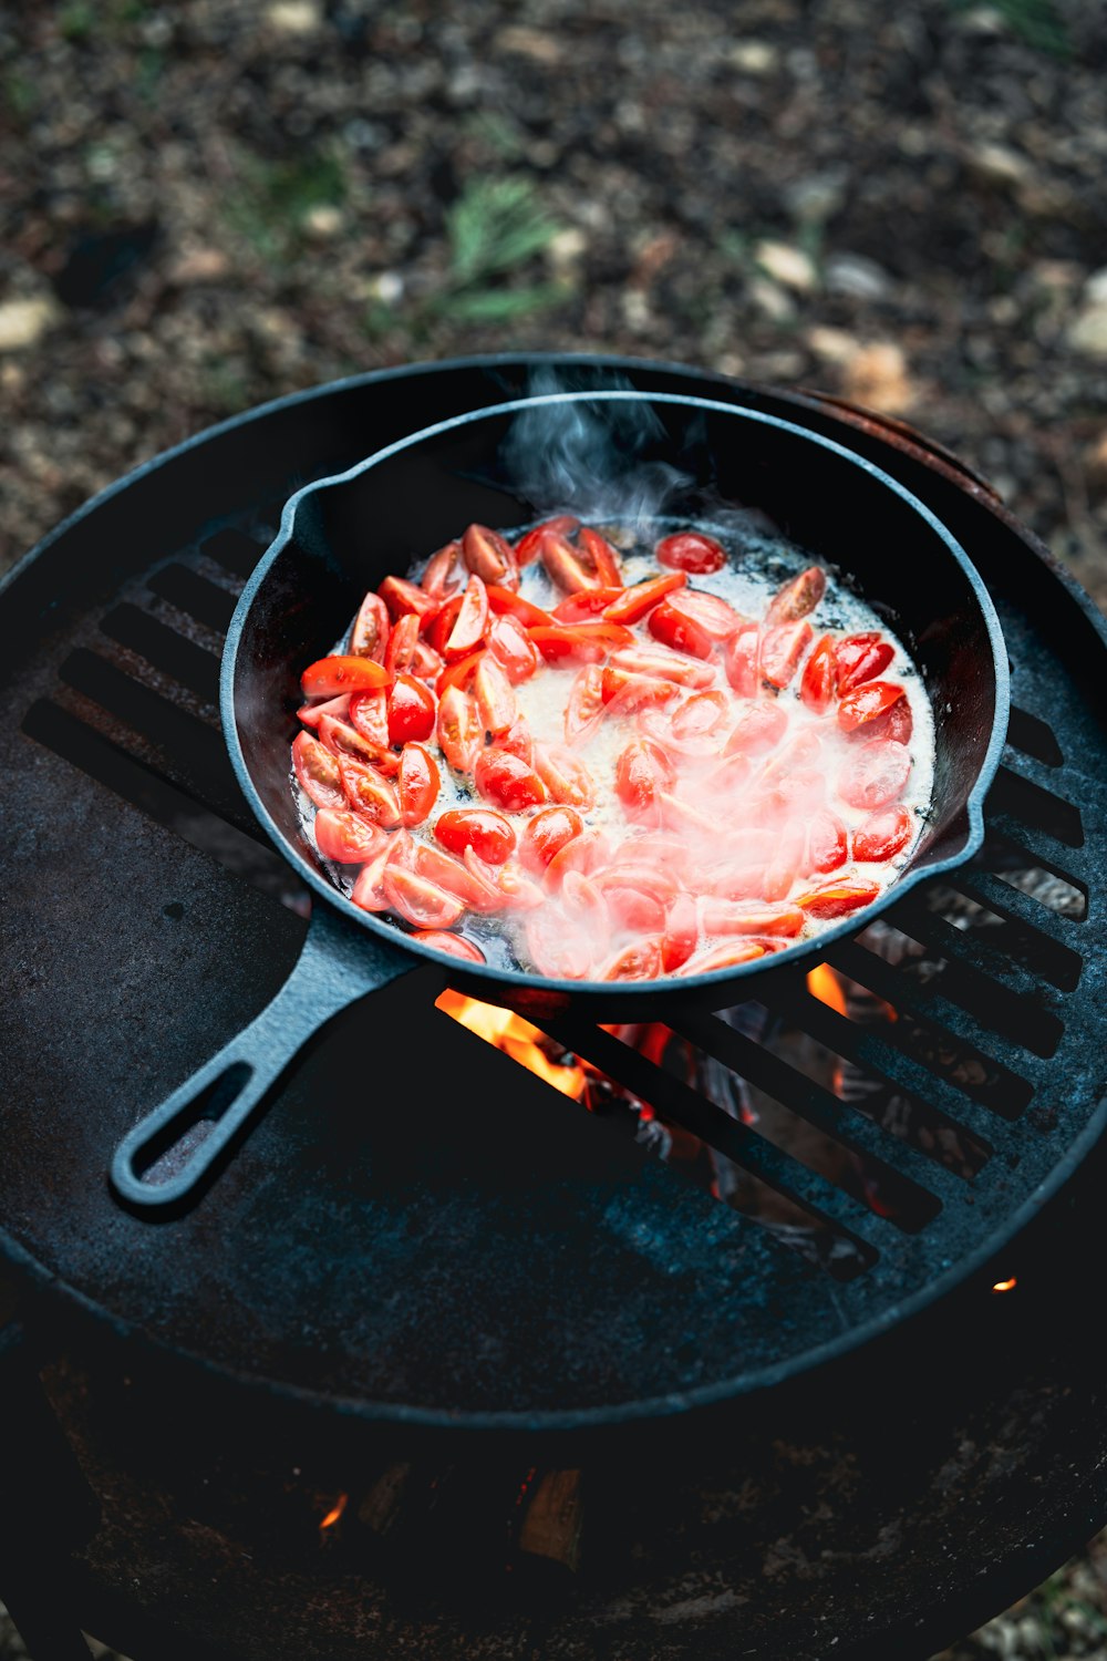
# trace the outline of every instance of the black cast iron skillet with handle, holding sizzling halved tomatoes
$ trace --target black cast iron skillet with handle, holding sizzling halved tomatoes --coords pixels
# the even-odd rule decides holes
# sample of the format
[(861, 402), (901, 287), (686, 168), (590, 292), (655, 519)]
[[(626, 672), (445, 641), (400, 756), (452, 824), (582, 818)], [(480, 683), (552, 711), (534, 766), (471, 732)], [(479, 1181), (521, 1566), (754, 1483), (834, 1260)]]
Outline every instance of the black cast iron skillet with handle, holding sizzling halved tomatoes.
[[(684, 483), (666, 513), (758, 510), (817, 560), (838, 566), (911, 651), (934, 711), (936, 767), (931, 819), (909, 865), (863, 912), (780, 957), (632, 985), (445, 958), (355, 907), (304, 839), (289, 786), (305, 664), (330, 651), (368, 588), (470, 522), (513, 530), (551, 510), (586, 517), (596, 508), (597, 475), (607, 500), (612, 490), (634, 500), (642, 482), (649, 490), (672, 468)], [(750, 977), (818, 960), (830, 940), (863, 928), (908, 887), (979, 849), (1007, 706), (999, 621), (959, 543), (871, 462), (775, 415), (669, 394), (551, 394), (440, 422), (307, 485), (287, 502), (280, 533), (231, 621), (222, 724), (251, 807), (317, 895), (310, 928), (274, 1002), (121, 1141), (111, 1168), (116, 1193), (139, 1208), (179, 1203), (242, 1133), (302, 1045), (345, 1005), (420, 962), (435, 962), (471, 997), (536, 1018), (571, 1007), (593, 1022), (664, 1022), (677, 1003), (729, 1008), (753, 995)], [(146, 1181), (151, 1164), (201, 1118), (214, 1121), (206, 1139), (166, 1181)]]

